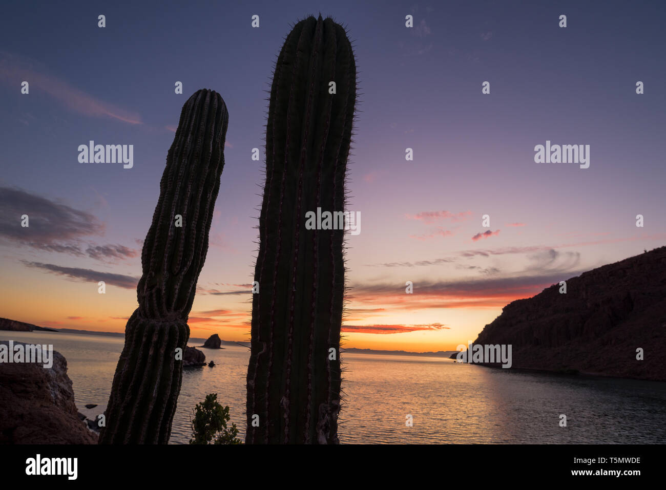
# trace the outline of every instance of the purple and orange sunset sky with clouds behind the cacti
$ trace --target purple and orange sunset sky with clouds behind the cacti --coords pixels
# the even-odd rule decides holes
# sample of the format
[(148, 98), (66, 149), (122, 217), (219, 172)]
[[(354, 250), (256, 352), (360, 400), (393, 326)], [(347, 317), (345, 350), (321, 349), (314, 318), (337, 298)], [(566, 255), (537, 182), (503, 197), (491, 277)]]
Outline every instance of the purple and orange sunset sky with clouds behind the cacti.
[[(124, 331), (180, 109), (207, 88), (229, 126), (188, 324), (248, 340), (266, 91), (284, 37), (318, 13), (348, 29), (359, 79), (344, 347), (455, 350), (509, 302), (666, 243), (661, 1), (15, 2), (0, 19), (0, 316)], [(89, 140), (133, 144), (133, 168), (80, 163)], [(535, 163), (547, 140), (589, 145), (589, 168)]]

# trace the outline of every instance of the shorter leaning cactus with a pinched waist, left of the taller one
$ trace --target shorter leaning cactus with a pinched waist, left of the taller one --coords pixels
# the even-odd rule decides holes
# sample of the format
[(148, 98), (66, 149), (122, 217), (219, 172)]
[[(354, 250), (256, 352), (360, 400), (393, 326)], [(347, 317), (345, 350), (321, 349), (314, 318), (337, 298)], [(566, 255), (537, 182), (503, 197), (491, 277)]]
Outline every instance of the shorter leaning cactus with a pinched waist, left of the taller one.
[(176, 349), (184, 351), (190, 336), (187, 318), (208, 251), (227, 126), (226, 105), (214, 91), (197, 91), (182, 107), (143, 242), (139, 308), (125, 328), (102, 444), (168, 442), (182, 378)]

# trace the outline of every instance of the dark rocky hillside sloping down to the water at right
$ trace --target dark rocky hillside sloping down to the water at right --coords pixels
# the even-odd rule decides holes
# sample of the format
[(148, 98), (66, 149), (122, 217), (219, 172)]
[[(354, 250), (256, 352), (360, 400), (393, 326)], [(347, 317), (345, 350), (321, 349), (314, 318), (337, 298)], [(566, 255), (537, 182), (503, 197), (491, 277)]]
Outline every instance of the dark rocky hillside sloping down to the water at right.
[(509, 303), (474, 344), (512, 344), (513, 367), (666, 381), (666, 246), (566, 283)]

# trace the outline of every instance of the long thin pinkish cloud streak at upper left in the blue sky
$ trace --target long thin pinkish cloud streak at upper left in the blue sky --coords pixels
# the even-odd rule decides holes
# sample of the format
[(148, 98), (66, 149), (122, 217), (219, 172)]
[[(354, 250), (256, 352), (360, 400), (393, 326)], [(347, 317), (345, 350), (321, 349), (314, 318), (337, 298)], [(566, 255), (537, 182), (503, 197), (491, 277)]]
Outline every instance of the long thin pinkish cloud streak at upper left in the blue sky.
[(60, 101), (67, 109), (90, 117), (111, 117), (129, 124), (141, 124), (138, 113), (106, 103), (89, 95), (67, 81), (45, 73), (43, 67), (37, 67), (34, 61), (0, 51), (0, 80), (19, 87), (27, 81), (30, 93), (40, 91)]

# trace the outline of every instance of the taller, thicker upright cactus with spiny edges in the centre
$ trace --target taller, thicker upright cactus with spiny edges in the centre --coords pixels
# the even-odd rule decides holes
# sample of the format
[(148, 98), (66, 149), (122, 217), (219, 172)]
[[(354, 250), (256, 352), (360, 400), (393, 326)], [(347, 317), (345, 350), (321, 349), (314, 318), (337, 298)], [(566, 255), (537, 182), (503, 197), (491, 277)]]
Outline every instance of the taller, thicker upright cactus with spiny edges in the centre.
[(247, 443), (339, 442), (344, 230), (309, 230), (305, 214), (344, 211), (355, 104), (344, 29), (321, 16), (298, 22), (268, 107)]

